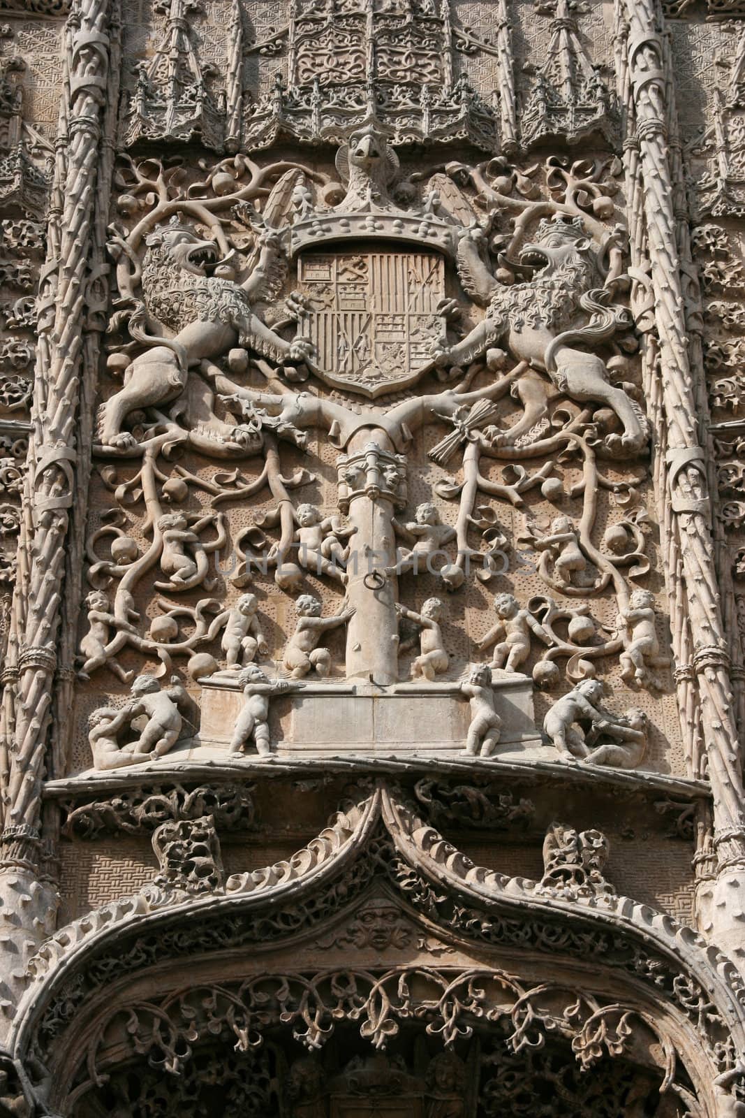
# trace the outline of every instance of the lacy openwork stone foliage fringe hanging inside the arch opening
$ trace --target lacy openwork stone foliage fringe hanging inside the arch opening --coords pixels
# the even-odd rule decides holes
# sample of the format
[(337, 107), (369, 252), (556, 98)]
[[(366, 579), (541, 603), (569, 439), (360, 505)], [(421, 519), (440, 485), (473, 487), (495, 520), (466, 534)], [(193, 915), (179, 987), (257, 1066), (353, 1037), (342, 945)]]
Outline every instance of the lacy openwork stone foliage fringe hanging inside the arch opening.
[[(601, 1001), (561, 986), (531, 988), (497, 969), (321, 970), (315, 974), (266, 974), (242, 983), (192, 987), (157, 1008), (134, 1004), (116, 1010), (126, 1021), (132, 1049), (152, 1065), (180, 1073), (192, 1050), (210, 1036), (227, 1034), (238, 1051), (264, 1042), (280, 1023), (308, 1050), (325, 1044), (340, 1022), (354, 1021), (360, 1035), (385, 1049), (401, 1023), (426, 1017), (428, 1032), (446, 1048), (471, 1035), (475, 1020), (508, 1021), (513, 1051), (543, 1043), (558, 1030), (572, 1039), (576, 1059), (591, 1068), (603, 1055), (620, 1055), (640, 1022), (631, 1007)], [(666, 1081), (674, 1072), (666, 1049)], [(93, 1067), (105, 1052), (93, 1055)]]

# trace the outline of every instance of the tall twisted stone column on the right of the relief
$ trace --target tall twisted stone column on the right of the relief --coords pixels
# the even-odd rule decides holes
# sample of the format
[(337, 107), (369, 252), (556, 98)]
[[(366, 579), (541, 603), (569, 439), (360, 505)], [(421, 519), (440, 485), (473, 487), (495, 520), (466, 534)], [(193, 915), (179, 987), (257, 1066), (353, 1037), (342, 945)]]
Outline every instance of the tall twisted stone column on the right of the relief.
[(693, 643), (691, 666), (700, 695), (701, 730), (714, 799), (717, 878), (708, 930), (723, 948), (745, 965), (742, 756), (716, 576), (707, 468), (697, 429), (694, 372), (686, 330), (659, 19), (655, 0), (632, 0), (625, 6), (629, 75), (660, 345), (658, 376), (666, 425), (669, 508), (680, 547)]

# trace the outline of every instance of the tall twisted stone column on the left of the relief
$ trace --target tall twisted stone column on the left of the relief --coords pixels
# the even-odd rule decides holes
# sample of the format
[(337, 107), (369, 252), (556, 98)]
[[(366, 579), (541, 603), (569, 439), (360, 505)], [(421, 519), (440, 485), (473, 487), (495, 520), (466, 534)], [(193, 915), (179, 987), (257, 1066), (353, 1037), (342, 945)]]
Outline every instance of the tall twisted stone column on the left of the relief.
[[(46, 775), (65, 577), (76, 500), (80, 376), (86, 345), (89, 256), (109, 69), (112, 0), (78, 0), (66, 28), (47, 262), (39, 290), (39, 340), (28, 480), (19, 541), (7, 698), (0, 719), (2, 832), (0, 938), (6, 1020), (22, 988), (25, 959), (54, 927), (56, 893), (39, 871), (41, 785)], [(111, 91), (108, 91), (111, 94)], [(0, 1040), (3, 1024), (0, 1018)]]

